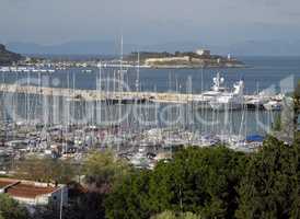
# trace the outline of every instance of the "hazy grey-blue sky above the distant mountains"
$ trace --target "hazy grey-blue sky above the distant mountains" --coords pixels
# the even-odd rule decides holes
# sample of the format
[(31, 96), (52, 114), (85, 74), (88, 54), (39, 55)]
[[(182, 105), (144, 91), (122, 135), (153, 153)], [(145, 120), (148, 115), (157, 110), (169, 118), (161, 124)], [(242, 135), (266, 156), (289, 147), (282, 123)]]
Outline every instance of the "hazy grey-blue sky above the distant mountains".
[(300, 39), (299, 0), (0, 0), (0, 42)]

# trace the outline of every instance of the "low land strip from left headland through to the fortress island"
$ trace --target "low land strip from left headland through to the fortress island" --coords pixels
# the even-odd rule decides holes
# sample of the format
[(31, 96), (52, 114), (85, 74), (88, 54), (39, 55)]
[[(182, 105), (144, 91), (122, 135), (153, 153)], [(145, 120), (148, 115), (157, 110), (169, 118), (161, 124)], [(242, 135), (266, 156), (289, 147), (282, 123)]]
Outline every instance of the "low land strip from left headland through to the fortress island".
[[(66, 68), (90, 68), (99, 67), (101, 64), (105, 68), (242, 68), (245, 65), (232, 58), (230, 55), (220, 56), (211, 55), (210, 50), (197, 49), (196, 51), (132, 51), (130, 54), (119, 56), (41, 56), (31, 55), (22, 56), (5, 49), (0, 44), (0, 66), (2, 67), (21, 67), (21, 68), (0, 68), (0, 71), (23, 71), (23, 68), (44, 69), (53, 71), (55, 69)], [(28, 70), (28, 69), (27, 69)], [(84, 70), (83, 70), (84, 71)], [(86, 70), (91, 72), (91, 70)]]

